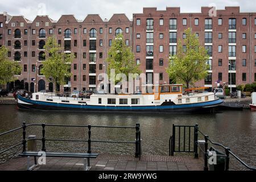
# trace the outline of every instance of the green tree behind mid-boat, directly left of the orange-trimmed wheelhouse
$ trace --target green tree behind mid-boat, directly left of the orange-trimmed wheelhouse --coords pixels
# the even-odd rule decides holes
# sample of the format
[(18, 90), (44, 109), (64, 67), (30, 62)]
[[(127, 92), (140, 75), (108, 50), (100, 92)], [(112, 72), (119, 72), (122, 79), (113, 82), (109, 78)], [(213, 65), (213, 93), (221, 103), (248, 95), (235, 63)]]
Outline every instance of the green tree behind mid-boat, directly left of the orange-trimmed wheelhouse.
[[(125, 45), (122, 34), (116, 36), (108, 55), (106, 61), (108, 62), (107, 73), (109, 77), (111, 69), (115, 69), (115, 74), (125, 74), (127, 78), (129, 78), (130, 73), (141, 74), (142, 71), (139, 69), (139, 65), (135, 64), (134, 53), (129, 46)], [(119, 81), (121, 81), (121, 78), (116, 80), (115, 83)]]

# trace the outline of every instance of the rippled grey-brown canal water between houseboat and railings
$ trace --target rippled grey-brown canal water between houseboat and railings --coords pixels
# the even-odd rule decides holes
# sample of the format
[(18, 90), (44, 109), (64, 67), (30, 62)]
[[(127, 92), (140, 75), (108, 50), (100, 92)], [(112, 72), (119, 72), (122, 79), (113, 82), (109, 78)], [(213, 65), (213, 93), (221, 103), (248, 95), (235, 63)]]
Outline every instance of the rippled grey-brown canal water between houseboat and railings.
[[(256, 166), (256, 112), (223, 111), (217, 114), (117, 114), (63, 111), (21, 111), (15, 105), (0, 105), (0, 133), (22, 126), (22, 122), (60, 125), (135, 126), (141, 124), (143, 154), (168, 155), (172, 124), (195, 125), (214, 142), (224, 144), (250, 166)], [(46, 127), (46, 138), (87, 139), (88, 130), (69, 127)], [(28, 127), (28, 135), (42, 138), (42, 127)], [(22, 130), (0, 137), (0, 150), (20, 142)], [(202, 138), (202, 137), (200, 137)], [(93, 140), (132, 141), (135, 129), (92, 129)], [(37, 141), (38, 149), (42, 143)], [(86, 143), (46, 142), (47, 151), (84, 152)], [(0, 156), (0, 161), (15, 150)], [(134, 154), (134, 144), (92, 143), (92, 152)], [(175, 154), (180, 155), (180, 154)], [(245, 169), (232, 159), (232, 169)]]

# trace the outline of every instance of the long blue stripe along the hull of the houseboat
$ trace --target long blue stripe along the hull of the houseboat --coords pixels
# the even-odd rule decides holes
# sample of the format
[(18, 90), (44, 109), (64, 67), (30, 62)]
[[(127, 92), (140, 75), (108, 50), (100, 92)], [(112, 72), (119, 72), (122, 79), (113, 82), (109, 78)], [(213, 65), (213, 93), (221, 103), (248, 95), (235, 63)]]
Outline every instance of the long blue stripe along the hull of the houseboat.
[[(185, 109), (185, 108), (196, 108), (196, 107), (208, 107), (217, 106), (222, 104), (222, 100), (214, 100), (209, 102), (201, 102), (195, 104), (182, 104), (182, 105), (164, 105), (164, 106), (93, 106), (93, 105), (75, 105), (75, 104), (60, 104), (55, 102), (44, 102), (44, 101), (34, 101), (24, 98), (18, 95), (20, 101), (26, 102), (32, 105), (42, 105), (48, 107), (61, 107), (61, 108), (71, 108), (71, 109), (84, 109), (84, 110), (172, 110), (172, 109)], [(29, 105), (27, 105), (29, 106)]]

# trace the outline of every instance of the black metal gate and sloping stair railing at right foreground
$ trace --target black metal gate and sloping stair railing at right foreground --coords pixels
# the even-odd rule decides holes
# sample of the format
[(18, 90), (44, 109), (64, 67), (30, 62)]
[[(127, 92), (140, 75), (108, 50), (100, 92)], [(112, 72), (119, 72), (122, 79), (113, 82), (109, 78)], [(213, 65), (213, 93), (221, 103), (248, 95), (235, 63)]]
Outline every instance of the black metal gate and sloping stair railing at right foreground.
[[(177, 130), (178, 129), (178, 130)], [(189, 136), (188, 136), (188, 140), (189, 142), (187, 143), (187, 145), (189, 146), (188, 150), (185, 150), (185, 146), (186, 146), (186, 138), (187, 136), (185, 135), (186, 134), (186, 129), (189, 130)], [(190, 141), (192, 140), (191, 139), (191, 129), (193, 130), (194, 134), (194, 138), (193, 138), (193, 148), (191, 149), (190, 147)], [(178, 133), (176, 133), (176, 130), (178, 131)], [(188, 131), (187, 130), (187, 131)], [(183, 131), (183, 140), (184, 141), (181, 141), (181, 131)], [(199, 137), (199, 134), (203, 135), (204, 137), (204, 148), (200, 148), (199, 147), (199, 142), (198, 142), (198, 137)], [(176, 147), (176, 135), (179, 136), (178, 137), (178, 146)], [(181, 142), (183, 142), (183, 145), (181, 145)], [(219, 146), (219, 147), (222, 147), (224, 148), (225, 150), (225, 171), (228, 171), (229, 170), (229, 161), (230, 161), (230, 155), (232, 155), (236, 160), (238, 160), (238, 162), (240, 162), (243, 166), (245, 166), (247, 169), (250, 169), (250, 170), (253, 170), (253, 171), (256, 171), (256, 168), (255, 167), (250, 167), (248, 166), (245, 162), (243, 162), (240, 158), (238, 158), (238, 156), (236, 156), (231, 150), (229, 147), (225, 147), (224, 145), (220, 144), (220, 143), (216, 143), (216, 142), (212, 142), (212, 140), (209, 139), (209, 136), (208, 135), (205, 135), (203, 134), (200, 130), (199, 130), (199, 125), (196, 124), (195, 126), (175, 126), (173, 125), (172, 126), (172, 136), (170, 137), (170, 140), (169, 140), (169, 155), (171, 156), (174, 156), (174, 152), (195, 152), (195, 158), (198, 158), (198, 148), (204, 153), (204, 171), (208, 171), (209, 170), (209, 167), (208, 167), (208, 158), (209, 158), (209, 155), (208, 155), (208, 152), (209, 152), (209, 143), (215, 145), (215, 146)], [(178, 148), (178, 149), (176, 149)]]

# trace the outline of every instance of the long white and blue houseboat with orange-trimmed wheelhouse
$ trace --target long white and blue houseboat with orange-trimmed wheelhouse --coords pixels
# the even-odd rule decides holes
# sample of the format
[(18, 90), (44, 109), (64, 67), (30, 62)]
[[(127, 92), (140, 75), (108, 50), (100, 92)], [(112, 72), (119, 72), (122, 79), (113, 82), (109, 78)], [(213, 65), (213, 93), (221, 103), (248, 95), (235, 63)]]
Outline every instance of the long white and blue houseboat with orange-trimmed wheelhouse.
[[(116, 113), (205, 113), (222, 100), (212, 92), (183, 94), (182, 85), (152, 85), (151, 93), (92, 94), (90, 98), (59, 97), (38, 92), (32, 97), (18, 95), (18, 107), (32, 110), (73, 110)], [(142, 89), (147, 89), (142, 86)]]

